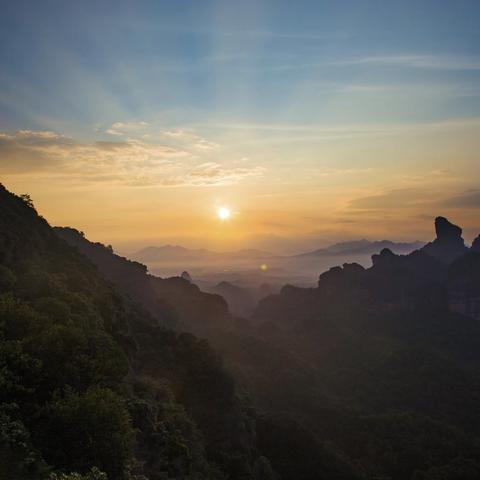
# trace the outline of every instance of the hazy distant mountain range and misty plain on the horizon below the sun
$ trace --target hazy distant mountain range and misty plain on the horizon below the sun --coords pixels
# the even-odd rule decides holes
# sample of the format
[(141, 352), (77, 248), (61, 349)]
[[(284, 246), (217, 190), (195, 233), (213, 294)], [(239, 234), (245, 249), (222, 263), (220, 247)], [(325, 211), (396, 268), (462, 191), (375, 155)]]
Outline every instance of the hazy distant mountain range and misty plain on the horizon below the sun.
[[(313, 285), (318, 272), (337, 264), (340, 259), (366, 266), (370, 256), (383, 248), (390, 248), (396, 253), (410, 253), (422, 245), (421, 242), (356, 240), (293, 256), (272, 255), (268, 251), (255, 249), (214, 252), (165, 245), (148, 247), (133, 254), (132, 258), (145, 263), (149, 271), (157, 276), (176, 276), (188, 270), (204, 291), (215, 292), (219, 283), (227, 282), (248, 290), (257, 299), (258, 288), (265, 283), (278, 288), (285, 283)], [(238, 302), (233, 305), (231, 295), (226, 295), (225, 299), (235, 313), (245, 315), (251, 312), (250, 306), (245, 310), (237, 308)]]

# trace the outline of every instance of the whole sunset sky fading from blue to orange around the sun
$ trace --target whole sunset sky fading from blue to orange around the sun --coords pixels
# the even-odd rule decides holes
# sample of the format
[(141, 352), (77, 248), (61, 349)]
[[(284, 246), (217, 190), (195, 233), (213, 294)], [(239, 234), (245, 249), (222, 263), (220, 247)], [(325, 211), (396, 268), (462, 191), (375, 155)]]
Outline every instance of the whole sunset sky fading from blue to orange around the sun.
[(123, 251), (480, 233), (477, 0), (0, 6), (0, 182), (53, 225)]

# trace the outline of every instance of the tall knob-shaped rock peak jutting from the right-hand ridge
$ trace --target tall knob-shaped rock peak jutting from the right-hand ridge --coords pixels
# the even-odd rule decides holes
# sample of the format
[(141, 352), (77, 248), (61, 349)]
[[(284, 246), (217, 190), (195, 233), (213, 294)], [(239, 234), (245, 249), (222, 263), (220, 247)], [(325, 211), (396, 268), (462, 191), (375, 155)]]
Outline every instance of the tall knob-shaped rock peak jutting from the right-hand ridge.
[(450, 264), (469, 251), (462, 238), (462, 229), (445, 217), (435, 219), (435, 232), (437, 238), (422, 248), (428, 255)]

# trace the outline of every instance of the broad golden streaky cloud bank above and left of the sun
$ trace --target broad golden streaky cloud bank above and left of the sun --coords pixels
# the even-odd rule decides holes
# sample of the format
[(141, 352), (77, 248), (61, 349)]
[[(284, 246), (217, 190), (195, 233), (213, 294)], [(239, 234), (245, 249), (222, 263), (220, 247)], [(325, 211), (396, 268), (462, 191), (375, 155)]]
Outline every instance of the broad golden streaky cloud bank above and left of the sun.
[(214, 186), (263, 175), (261, 167), (229, 167), (191, 152), (137, 140), (79, 143), (54, 132), (0, 132), (0, 173), (130, 186)]

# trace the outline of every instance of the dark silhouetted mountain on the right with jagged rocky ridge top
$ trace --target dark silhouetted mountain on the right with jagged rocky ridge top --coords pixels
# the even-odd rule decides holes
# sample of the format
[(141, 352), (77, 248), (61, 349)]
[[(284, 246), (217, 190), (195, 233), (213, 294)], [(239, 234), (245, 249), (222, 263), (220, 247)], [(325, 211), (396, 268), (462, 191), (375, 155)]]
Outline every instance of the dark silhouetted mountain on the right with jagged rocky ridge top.
[(259, 405), (301, 412), (366, 478), (480, 478), (480, 253), (447, 222), (408, 255), (286, 285), (252, 317), (278, 359), (291, 355), (275, 394), (255, 387)]

